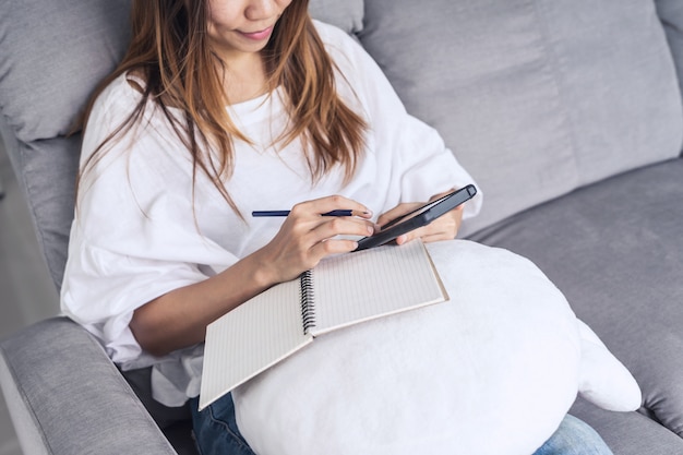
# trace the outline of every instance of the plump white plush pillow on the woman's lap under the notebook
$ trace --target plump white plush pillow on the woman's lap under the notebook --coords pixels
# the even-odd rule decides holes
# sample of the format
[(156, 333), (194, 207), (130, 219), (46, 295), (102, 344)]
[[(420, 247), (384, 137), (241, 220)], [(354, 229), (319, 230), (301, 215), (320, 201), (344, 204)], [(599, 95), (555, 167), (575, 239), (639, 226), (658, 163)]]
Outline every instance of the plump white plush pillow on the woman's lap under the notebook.
[[(639, 405), (631, 374), (531, 262), (463, 240), (428, 249), (450, 302), (321, 336), (235, 391), (257, 454), (529, 455), (579, 384), (611, 408)], [(614, 382), (625, 396), (603, 393)]]

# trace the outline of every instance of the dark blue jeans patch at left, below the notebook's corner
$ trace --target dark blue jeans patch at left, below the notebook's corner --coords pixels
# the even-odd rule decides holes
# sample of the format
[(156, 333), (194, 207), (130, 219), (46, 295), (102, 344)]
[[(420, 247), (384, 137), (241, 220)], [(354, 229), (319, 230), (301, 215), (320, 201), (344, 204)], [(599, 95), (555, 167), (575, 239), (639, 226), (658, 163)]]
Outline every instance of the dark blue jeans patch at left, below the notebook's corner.
[(232, 395), (227, 394), (202, 410), (190, 400), (194, 441), (201, 455), (255, 455), (237, 428)]

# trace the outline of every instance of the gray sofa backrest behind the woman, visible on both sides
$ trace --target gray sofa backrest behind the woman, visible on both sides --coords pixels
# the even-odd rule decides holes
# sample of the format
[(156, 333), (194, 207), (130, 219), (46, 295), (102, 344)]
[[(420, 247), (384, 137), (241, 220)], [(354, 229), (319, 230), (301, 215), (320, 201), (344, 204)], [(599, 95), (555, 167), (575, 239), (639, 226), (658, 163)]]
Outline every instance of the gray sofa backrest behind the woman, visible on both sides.
[[(67, 133), (121, 58), (130, 0), (0, 2), (0, 134), (57, 287), (80, 135)], [(604, 177), (676, 156), (680, 0), (311, 0), (358, 34), (408, 109), (484, 193), (464, 234)]]

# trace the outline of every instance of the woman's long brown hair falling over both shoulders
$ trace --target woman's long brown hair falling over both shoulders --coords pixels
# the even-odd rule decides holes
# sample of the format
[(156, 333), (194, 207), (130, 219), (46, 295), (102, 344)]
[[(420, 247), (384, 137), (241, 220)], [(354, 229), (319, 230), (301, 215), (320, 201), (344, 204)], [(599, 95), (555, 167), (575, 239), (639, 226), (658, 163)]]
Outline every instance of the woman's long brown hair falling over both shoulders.
[[(269, 92), (281, 86), (288, 101), (290, 128), (278, 141), (285, 146), (301, 139), (313, 181), (337, 165), (348, 181), (363, 151), (367, 124), (336, 93), (334, 62), (309, 16), (308, 3), (292, 0), (262, 51)], [(88, 158), (79, 179), (100, 159), (109, 141), (140, 121), (145, 106), (153, 100), (191, 154), (193, 180), (197, 169), (204, 172), (237, 211), (223, 181), (233, 170), (232, 141), (249, 137), (235, 127), (226, 109), (223, 63), (213, 52), (206, 33), (208, 8), (208, 0), (133, 0), (131, 44), (123, 60), (91, 98), (82, 125), (97, 96), (121, 74), (143, 79), (142, 98), (123, 124)], [(169, 107), (181, 108), (184, 119), (172, 116)], [(217, 161), (206, 152), (209, 146), (218, 152)]]

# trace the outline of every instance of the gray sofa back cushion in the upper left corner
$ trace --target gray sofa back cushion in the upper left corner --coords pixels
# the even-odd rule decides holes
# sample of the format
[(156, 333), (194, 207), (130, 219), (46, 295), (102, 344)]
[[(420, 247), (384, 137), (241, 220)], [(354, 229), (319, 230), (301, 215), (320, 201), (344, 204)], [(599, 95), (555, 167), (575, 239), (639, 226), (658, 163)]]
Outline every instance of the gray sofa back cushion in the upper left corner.
[(0, 7), (0, 106), (20, 141), (67, 134), (122, 56), (130, 0), (84, 4), (5, 0)]

